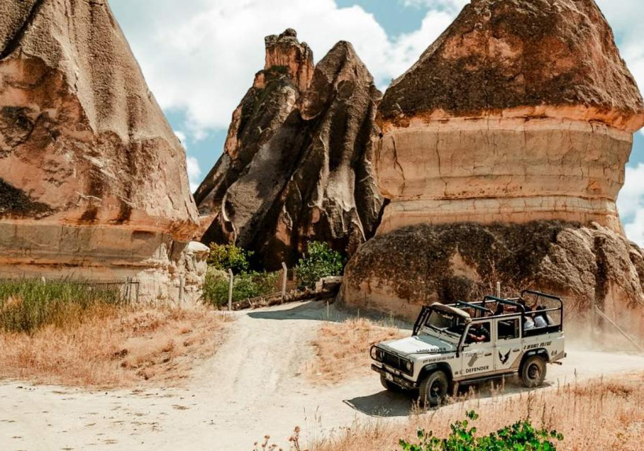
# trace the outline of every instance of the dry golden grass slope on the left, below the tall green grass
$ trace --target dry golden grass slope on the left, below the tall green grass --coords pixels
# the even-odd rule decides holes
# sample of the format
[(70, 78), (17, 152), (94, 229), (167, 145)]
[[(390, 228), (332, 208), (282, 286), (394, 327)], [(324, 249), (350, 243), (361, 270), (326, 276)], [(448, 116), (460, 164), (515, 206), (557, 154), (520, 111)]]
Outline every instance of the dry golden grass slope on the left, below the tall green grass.
[(0, 332), (0, 378), (82, 387), (177, 383), (211, 356), (227, 317), (206, 309), (96, 305), (32, 334)]

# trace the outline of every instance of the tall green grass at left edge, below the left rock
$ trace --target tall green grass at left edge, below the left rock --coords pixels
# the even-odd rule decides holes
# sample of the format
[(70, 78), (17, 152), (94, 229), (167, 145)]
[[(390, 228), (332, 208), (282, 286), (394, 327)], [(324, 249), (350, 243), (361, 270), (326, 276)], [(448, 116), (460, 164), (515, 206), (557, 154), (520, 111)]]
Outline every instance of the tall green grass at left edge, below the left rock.
[(81, 280), (0, 280), (0, 330), (32, 333), (44, 325), (62, 327), (82, 321), (92, 307), (120, 303), (120, 291), (111, 285)]

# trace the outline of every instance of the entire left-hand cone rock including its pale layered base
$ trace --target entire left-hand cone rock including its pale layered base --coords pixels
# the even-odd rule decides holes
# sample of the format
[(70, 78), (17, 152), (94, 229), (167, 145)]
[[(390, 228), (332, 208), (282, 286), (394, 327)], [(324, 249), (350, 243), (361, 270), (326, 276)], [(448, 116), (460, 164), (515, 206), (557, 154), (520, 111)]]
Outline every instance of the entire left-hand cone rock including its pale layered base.
[(0, 277), (178, 289), (198, 228), (185, 152), (106, 2), (0, 3)]

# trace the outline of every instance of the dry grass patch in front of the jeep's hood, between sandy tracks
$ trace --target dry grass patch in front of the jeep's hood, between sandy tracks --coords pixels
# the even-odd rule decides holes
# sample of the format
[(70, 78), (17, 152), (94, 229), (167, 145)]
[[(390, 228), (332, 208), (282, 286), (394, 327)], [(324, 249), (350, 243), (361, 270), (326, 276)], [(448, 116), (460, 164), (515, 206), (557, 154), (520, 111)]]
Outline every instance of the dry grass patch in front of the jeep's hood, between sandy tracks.
[(307, 362), (305, 374), (312, 381), (322, 384), (366, 376), (372, 373), (369, 357), (372, 345), (409, 335), (409, 331), (365, 319), (325, 323), (311, 343), (315, 357)]

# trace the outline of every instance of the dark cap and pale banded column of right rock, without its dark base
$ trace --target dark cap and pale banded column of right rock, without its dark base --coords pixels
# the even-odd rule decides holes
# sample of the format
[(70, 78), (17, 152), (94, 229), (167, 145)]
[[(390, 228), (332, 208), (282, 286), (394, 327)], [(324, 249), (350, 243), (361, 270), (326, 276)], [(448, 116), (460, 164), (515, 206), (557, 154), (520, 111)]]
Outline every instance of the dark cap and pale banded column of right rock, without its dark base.
[(410, 224), (597, 222), (641, 95), (592, 0), (475, 0), (386, 91), (379, 233)]

